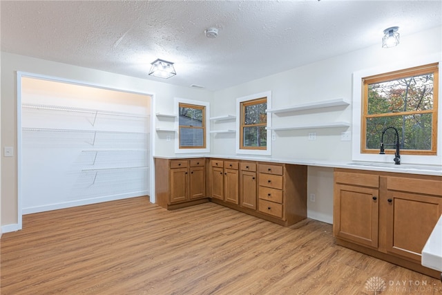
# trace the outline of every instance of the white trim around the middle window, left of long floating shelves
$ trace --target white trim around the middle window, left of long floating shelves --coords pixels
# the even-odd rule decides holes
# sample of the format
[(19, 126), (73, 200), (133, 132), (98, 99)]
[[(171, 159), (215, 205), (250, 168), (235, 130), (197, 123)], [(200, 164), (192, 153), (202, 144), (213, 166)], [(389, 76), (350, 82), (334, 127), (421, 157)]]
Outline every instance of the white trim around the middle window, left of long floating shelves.
[(248, 155), (271, 155), (271, 130), (268, 127), (271, 126), (271, 115), (267, 113), (267, 123), (260, 126), (266, 126), (267, 129), (267, 146), (243, 146), (243, 131), (242, 131), (242, 118), (244, 117), (243, 105), (253, 104), (253, 102), (259, 101), (259, 99), (267, 99), (267, 109), (271, 108), (271, 91), (262, 93), (256, 93), (253, 95), (247, 95), (244, 97), (238, 97), (236, 99), (236, 153), (248, 154)]

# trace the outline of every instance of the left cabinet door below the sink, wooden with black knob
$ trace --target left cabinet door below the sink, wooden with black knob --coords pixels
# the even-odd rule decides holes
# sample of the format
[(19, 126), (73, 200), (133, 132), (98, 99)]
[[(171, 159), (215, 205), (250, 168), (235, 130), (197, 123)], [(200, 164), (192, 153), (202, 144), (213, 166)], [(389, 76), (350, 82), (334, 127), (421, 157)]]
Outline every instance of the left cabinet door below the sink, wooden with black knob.
[(334, 236), (377, 248), (378, 202), (378, 189), (335, 184)]

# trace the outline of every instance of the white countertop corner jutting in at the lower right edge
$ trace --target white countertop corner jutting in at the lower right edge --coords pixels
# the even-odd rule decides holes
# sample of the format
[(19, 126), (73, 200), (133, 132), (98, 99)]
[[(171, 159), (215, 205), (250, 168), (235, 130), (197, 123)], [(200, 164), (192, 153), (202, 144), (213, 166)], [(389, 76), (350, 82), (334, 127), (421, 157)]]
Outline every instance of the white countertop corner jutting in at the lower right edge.
[(421, 264), (442, 272), (442, 216), (423, 247)]

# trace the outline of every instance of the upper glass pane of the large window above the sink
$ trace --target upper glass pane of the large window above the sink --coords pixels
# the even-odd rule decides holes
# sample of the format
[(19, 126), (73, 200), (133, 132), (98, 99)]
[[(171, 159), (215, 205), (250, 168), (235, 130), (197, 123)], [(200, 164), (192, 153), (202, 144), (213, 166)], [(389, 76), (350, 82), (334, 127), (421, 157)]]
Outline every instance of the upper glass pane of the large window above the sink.
[(368, 114), (433, 108), (433, 73), (368, 85)]

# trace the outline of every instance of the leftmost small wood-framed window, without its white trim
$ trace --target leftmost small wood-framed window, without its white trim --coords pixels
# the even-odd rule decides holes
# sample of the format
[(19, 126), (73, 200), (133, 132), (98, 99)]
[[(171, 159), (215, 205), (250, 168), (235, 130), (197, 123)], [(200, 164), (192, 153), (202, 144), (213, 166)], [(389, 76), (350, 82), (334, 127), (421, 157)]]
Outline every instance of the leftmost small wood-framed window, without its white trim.
[(206, 148), (206, 108), (180, 103), (178, 107), (180, 149)]

